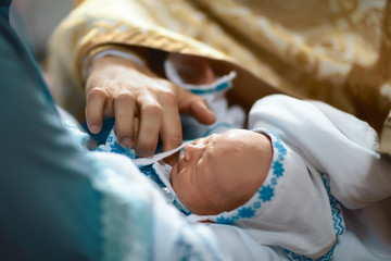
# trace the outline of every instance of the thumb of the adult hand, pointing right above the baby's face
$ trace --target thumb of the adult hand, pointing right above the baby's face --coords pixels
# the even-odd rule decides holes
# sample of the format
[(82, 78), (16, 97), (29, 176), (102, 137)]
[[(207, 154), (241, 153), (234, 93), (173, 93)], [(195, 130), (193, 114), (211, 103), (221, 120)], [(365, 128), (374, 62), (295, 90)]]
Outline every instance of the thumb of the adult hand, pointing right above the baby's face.
[(209, 109), (204, 98), (178, 88), (178, 101), (179, 111), (192, 115), (200, 123), (213, 124), (216, 122), (216, 116)]

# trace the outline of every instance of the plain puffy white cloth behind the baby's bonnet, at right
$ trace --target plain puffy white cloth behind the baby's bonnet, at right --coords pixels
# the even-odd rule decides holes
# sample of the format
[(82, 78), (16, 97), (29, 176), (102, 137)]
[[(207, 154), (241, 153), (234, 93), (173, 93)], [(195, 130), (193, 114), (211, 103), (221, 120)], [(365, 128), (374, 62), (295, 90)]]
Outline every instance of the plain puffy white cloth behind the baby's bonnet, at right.
[(332, 195), (345, 208), (391, 196), (391, 161), (375, 151), (377, 134), (366, 122), (325, 103), (276, 95), (254, 104), (249, 125), (298, 148), (308, 166), (329, 176)]

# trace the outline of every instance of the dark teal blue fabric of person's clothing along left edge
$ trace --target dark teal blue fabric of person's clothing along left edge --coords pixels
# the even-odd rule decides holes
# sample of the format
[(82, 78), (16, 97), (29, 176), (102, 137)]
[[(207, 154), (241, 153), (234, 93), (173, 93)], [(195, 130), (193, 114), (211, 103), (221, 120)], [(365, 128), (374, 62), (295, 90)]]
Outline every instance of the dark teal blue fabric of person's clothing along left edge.
[(101, 195), (0, 1), (0, 260), (97, 260)]

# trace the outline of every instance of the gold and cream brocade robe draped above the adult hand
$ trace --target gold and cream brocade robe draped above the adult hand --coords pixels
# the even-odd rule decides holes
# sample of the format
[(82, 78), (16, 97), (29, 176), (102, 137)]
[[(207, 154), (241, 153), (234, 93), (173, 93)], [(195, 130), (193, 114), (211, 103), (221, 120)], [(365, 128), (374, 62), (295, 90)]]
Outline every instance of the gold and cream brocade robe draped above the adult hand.
[(55, 99), (83, 112), (91, 55), (134, 46), (237, 70), (234, 92), (248, 105), (282, 91), (325, 101), (377, 130), (391, 108), (387, 0), (87, 0), (50, 41)]

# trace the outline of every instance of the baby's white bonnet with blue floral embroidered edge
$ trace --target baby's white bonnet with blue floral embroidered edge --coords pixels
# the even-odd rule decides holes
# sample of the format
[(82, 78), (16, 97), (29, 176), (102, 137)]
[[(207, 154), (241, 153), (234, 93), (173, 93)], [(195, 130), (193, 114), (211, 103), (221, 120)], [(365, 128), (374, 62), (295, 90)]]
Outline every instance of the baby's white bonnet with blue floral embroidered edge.
[(273, 144), (265, 182), (243, 206), (207, 220), (242, 227), (260, 244), (281, 247), (293, 260), (328, 260), (336, 231), (323, 178), (319, 173), (311, 173), (303, 158), (279, 137), (267, 129), (255, 132), (270, 137)]

